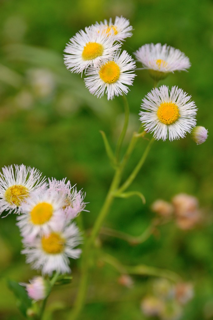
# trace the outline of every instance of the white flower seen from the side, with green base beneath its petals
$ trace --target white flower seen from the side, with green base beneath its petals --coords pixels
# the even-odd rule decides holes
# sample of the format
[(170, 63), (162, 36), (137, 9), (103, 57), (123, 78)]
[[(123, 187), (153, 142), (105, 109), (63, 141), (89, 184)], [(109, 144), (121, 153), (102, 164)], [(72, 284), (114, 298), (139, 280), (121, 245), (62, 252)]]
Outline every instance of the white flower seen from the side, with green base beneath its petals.
[(189, 58), (179, 49), (167, 44), (145, 44), (134, 52), (136, 59), (144, 69), (149, 69), (150, 75), (156, 79), (164, 79), (168, 73), (191, 67)]

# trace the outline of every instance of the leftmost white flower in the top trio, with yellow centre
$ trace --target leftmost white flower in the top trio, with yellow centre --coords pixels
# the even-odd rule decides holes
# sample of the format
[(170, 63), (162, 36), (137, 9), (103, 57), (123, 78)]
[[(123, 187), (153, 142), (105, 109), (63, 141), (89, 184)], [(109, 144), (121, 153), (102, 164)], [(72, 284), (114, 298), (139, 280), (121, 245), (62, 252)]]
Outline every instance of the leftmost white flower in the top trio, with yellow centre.
[(121, 44), (115, 43), (112, 35), (106, 34), (101, 27), (99, 32), (94, 26), (80, 30), (70, 39), (65, 48), (65, 65), (71, 72), (83, 73), (89, 66), (98, 66), (101, 61), (111, 57)]

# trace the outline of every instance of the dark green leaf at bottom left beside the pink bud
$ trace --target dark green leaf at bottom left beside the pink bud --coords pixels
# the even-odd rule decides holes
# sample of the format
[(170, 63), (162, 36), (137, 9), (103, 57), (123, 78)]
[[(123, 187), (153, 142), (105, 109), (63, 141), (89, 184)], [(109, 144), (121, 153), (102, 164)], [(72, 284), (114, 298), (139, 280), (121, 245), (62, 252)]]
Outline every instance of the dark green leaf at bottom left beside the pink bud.
[(28, 297), (28, 294), (24, 287), (16, 281), (8, 280), (8, 288), (14, 293), (18, 298), (17, 306), (21, 313), (26, 316), (27, 310), (32, 306), (32, 300)]

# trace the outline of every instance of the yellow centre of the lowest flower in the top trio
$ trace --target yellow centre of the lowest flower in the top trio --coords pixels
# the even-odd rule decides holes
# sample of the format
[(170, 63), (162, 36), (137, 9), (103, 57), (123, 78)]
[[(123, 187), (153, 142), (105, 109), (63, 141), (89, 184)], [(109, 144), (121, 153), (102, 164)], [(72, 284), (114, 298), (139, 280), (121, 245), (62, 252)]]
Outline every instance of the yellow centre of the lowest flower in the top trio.
[(99, 76), (106, 83), (114, 83), (119, 79), (120, 68), (114, 61), (106, 62), (100, 68)]

